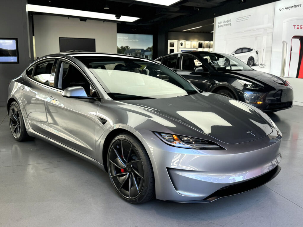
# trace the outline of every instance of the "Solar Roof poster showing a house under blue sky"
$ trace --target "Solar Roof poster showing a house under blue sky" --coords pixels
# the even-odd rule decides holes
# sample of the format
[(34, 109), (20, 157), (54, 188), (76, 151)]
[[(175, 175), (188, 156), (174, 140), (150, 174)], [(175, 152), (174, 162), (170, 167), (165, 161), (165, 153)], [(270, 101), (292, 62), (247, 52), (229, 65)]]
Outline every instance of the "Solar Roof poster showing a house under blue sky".
[(152, 60), (152, 35), (117, 33), (117, 53)]

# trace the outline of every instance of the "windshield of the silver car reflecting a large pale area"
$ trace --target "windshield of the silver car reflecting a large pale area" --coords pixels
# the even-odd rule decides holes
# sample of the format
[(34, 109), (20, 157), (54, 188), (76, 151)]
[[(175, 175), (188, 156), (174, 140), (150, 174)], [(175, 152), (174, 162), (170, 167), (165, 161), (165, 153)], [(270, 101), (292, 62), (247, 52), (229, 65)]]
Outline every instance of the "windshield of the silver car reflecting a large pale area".
[(114, 100), (169, 98), (198, 93), (167, 67), (132, 57), (75, 56)]

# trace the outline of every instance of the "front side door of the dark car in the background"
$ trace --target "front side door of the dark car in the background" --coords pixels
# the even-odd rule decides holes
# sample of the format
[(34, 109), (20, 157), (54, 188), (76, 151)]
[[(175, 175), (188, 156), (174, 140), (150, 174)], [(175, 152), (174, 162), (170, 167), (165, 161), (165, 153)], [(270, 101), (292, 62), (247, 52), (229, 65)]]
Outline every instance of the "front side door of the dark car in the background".
[[(195, 68), (198, 68), (199, 70), (195, 71)], [(181, 54), (179, 68), (176, 72), (200, 90), (206, 91), (208, 89), (208, 69), (195, 56), (190, 54)]]

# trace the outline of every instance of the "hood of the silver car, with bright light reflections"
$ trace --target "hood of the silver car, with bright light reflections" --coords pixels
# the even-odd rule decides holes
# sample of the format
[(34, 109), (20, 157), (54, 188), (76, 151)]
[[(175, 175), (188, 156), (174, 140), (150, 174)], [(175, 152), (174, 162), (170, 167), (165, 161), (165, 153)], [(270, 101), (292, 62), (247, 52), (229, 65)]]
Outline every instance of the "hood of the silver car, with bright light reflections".
[(272, 132), (268, 123), (248, 105), (213, 93), (123, 102), (148, 108), (224, 143), (244, 143)]

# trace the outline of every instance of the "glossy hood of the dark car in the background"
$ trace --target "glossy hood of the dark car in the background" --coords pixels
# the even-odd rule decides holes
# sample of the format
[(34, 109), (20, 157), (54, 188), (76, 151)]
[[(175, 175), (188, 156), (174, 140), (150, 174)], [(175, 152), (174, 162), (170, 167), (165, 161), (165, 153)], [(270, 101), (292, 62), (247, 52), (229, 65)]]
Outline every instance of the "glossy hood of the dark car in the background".
[(249, 70), (249, 71), (230, 71), (228, 74), (232, 74), (235, 76), (246, 77), (248, 79), (252, 79), (254, 81), (260, 82), (261, 84), (268, 84), (271, 87), (285, 87), (287, 86), (285, 82), (274, 75), (269, 73), (264, 73), (256, 70)]

